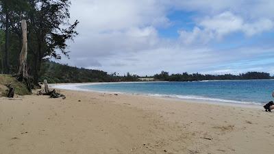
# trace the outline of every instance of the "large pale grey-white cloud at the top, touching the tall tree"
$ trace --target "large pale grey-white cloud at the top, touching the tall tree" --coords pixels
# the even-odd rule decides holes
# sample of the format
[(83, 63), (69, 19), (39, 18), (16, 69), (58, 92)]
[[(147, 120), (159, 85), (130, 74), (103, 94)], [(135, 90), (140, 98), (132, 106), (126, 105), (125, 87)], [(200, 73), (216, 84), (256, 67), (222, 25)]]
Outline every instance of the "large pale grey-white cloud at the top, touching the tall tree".
[(169, 25), (166, 8), (157, 0), (74, 0), (71, 14), (79, 29), (114, 31), (129, 27)]

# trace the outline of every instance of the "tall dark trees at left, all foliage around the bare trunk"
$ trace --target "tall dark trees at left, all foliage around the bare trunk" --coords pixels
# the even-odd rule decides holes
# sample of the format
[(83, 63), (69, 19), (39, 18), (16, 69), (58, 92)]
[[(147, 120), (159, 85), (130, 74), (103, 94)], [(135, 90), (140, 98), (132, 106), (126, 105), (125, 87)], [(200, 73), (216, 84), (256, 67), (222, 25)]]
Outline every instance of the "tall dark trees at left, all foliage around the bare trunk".
[[(21, 20), (27, 20), (29, 74), (38, 84), (42, 62), (68, 57), (67, 41), (77, 36), (70, 23), (70, 0), (0, 0), (1, 70), (14, 74), (22, 46)], [(4, 38), (3, 38), (4, 37)]]

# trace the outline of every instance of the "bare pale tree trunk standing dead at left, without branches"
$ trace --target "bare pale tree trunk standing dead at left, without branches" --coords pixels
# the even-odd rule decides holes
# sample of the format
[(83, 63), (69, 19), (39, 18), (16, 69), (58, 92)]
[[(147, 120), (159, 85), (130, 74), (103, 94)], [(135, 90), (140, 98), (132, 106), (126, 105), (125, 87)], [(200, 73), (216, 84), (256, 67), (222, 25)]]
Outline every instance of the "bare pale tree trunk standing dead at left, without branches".
[(23, 81), (26, 85), (29, 91), (32, 91), (30, 82), (29, 82), (29, 75), (27, 74), (27, 21), (22, 20), (21, 21), (21, 27), (22, 27), (22, 34), (23, 34), (23, 40), (22, 40), (22, 50), (20, 53), (20, 60), (19, 60), (19, 71), (18, 71), (18, 81)]

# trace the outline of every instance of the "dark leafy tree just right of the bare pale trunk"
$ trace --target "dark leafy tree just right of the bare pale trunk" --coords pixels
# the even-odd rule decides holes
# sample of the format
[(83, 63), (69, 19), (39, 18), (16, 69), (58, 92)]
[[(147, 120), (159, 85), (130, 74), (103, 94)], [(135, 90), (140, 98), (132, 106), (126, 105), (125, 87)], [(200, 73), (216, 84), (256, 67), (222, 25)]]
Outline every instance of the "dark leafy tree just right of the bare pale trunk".
[(66, 41), (77, 36), (75, 28), (79, 22), (69, 23), (69, 0), (29, 0), (29, 5), (29, 51), (34, 58), (34, 82), (38, 84), (40, 67), (45, 57), (61, 59), (60, 53), (69, 57)]

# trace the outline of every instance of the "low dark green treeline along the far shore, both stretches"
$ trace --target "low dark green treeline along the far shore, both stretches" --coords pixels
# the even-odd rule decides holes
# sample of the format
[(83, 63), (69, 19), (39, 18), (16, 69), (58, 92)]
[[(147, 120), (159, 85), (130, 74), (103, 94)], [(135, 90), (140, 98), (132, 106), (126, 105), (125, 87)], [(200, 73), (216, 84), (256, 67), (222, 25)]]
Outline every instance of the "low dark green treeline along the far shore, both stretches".
[[(40, 71), (39, 81), (47, 79), (49, 83), (82, 83), (82, 82), (117, 82), (117, 81), (138, 81), (137, 75), (119, 76), (116, 73), (108, 74), (102, 70), (90, 70), (77, 68), (56, 62), (45, 62)], [(169, 75), (162, 71), (154, 75), (158, 81), (200, 81), (200, 80), (225, 80), (225, 79), (271, 79), (269, 73), (249, 72), (240, 75), (201, 75), (199, 73), (182, 73)]]

